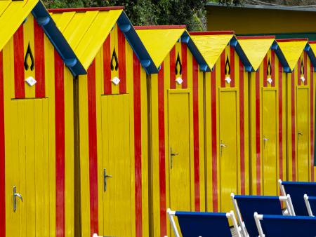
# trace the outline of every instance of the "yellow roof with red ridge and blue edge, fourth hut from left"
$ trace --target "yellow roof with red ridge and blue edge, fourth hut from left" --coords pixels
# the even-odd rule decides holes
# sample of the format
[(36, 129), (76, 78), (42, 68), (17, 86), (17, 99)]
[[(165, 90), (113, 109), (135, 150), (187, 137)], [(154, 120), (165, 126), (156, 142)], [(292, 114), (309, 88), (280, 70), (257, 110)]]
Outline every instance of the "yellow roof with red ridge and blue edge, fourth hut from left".
[(197, 44), (197, 48), (199, 48), (211, 69), (216, 64), (220, 54), (225, 50), (225, 47), (230, 44), (235, 48), (246, 71), (250, 72), (252, 69), (251, 63), (234, 34), (234, 32), (190, 32), (193, 41)]

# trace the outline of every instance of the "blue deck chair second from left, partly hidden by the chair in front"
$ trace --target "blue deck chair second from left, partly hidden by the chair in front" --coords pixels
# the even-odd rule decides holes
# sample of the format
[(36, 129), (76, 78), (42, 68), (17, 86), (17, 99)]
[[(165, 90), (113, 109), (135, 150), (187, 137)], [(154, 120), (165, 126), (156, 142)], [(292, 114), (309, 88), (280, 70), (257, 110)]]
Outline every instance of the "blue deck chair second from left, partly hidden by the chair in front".
[(250, 196), (230, 195), (234, 204), (243, 236), (258, 236), (254, 212), (269, 215), (282, 215), (281, 201), (287, 206), (288, 215), (295, 215), (291, 197), (288, 196)]

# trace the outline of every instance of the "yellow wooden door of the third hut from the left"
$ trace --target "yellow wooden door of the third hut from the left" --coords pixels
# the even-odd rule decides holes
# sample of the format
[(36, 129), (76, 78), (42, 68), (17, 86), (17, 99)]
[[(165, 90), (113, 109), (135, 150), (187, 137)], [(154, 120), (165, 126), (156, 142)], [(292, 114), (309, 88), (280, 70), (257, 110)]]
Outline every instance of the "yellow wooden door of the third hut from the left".
[(190, 93), (169, 90), (169, 180), (171, 210), (191, 210)]

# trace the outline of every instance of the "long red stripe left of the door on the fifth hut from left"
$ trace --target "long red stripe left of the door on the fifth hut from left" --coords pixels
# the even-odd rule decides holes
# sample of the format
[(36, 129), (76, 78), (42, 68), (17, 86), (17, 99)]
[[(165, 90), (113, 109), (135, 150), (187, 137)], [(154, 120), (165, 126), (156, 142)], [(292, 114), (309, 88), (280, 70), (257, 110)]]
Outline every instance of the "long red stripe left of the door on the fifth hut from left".
[[(264, 72), (263, 72), (264, 74)], [(260, 155), (260, 69), (256, 72), (256, 175), (257, 195), (261, 195), (261, 155)]]

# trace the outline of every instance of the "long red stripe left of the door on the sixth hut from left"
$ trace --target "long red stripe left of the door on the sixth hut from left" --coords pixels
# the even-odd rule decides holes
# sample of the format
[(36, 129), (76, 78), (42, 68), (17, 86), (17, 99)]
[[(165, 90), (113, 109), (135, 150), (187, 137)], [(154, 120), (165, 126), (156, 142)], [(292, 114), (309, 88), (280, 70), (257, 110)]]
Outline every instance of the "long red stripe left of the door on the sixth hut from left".
[(291, 144), (292, 144), (292, 181), (296, 181), (295, 160), (295, 72), (291, 73)]

